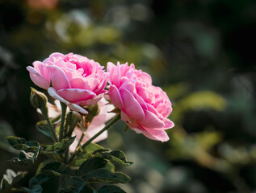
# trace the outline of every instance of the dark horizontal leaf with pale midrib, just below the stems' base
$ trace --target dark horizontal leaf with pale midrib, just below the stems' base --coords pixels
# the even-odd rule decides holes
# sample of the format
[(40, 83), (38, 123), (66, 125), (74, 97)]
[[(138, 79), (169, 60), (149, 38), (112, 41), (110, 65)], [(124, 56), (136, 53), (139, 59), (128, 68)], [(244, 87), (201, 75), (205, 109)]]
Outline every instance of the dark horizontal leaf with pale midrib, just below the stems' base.
[(66, 166), (64, 163), (61, 162), (50, 162), (46, 164), (40, 172), (47, 172), (52, 175), (74, 175), (74, 171), (69, 167)]

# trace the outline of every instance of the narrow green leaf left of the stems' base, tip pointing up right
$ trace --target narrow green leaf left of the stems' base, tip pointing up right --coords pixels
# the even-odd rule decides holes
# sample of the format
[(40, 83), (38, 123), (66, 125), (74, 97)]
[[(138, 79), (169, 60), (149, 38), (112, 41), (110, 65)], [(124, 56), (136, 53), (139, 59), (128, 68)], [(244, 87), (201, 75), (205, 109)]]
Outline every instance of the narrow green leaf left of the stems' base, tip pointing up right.
[(76, 138), (75, 136), (72, 138), (65, 138), (65, 139), (62, 139), (61, 142), (56, 142), (53, 145), (45, 145), (43, 146), (43, 150), (47, 152), (65, 150), (69, 148), (69, 146), (73, 143), (75, 138)]

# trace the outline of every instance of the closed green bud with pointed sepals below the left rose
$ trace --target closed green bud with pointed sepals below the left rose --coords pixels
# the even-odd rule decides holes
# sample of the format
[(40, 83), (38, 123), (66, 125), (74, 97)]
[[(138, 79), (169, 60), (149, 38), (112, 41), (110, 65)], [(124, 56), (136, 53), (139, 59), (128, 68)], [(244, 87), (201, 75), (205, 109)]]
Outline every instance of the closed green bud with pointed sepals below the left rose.
[(48, 115), (47, 96), (44, 93), (31, 88), (30, 102), (33, 107), (40, 109), (43, 115)]

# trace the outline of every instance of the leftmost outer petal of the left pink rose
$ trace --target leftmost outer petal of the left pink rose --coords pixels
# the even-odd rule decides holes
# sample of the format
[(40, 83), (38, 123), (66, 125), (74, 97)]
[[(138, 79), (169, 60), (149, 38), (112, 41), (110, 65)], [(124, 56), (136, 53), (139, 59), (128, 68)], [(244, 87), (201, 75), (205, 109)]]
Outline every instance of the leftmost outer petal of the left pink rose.
[(40, 88), (47, 89), (50, 86), (50, 82), (46, 78), (44, 78), (44, 76), (41, 76), (35, 68), (28, 66), (27, 71), (29, 71), (29, 76), (33, 83), (39, 86)]

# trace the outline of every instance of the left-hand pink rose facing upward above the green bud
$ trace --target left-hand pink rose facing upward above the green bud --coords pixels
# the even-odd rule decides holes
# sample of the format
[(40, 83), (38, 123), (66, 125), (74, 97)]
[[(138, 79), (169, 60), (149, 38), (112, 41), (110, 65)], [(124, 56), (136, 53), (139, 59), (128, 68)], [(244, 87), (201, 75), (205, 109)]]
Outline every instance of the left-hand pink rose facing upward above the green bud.
[(31, 80), (73, 111), (88, 113), (80, 105), (95, 105), (107, 92), (103, 66), (82, 55), (52, 53), (33, 67), (27, 67)]

